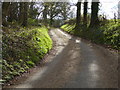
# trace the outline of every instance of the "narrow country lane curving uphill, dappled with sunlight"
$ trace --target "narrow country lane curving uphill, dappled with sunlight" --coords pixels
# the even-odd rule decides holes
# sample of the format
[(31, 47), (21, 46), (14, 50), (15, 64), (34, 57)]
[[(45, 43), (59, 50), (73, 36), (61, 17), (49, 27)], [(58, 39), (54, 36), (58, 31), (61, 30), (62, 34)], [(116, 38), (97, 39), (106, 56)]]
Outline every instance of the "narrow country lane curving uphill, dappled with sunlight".
[(101, 46), (50, 31), (54, 53), (36, 73), (15, 88), (117, 88), (118, 55)]

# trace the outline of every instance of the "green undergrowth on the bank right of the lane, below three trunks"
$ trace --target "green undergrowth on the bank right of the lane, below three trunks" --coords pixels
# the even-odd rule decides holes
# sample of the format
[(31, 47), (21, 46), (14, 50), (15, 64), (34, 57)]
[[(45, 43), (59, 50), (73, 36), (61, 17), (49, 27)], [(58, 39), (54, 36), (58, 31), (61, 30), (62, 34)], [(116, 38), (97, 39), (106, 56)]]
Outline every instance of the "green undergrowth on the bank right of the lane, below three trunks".
[(109, 20), (102, 22), (97, 28), (85, 28), (80, 26), (79, 30), (75, 30), (75, 24), (65, 24), (61, 26), (64, 31), (91, 40), (92, 42), (109, 46), (113, 49), (120, 49), (120, 23)]

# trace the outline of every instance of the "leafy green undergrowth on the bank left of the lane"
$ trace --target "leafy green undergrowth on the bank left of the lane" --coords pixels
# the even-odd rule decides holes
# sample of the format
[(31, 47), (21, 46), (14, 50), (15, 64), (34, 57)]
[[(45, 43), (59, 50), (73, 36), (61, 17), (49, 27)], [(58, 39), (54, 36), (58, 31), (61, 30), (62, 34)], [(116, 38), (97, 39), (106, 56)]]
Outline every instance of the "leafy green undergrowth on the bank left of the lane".
[(5, 82), (37, 65), (52, 48), (46, 27), (3, 28), (2, 79)]

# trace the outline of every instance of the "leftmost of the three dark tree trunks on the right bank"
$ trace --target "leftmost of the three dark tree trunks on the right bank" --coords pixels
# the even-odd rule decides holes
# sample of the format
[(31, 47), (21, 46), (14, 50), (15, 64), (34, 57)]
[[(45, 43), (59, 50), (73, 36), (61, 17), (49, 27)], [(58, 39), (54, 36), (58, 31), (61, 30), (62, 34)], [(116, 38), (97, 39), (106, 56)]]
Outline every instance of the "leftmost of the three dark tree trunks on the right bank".
[(76, 29), (79, 29), (81, 21), (81, 2), (77, 3)]

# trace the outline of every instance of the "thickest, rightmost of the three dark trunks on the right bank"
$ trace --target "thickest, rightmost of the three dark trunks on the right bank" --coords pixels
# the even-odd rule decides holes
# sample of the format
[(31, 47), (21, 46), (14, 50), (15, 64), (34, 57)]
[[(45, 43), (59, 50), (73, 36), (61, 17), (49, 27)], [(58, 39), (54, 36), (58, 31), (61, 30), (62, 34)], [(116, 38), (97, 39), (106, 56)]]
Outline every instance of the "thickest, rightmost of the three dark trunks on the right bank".
[(99, 25), (98, 11), (99, 11), (99, 0), (98, 2), (92, 2), (90, 27), (96, 27)]

